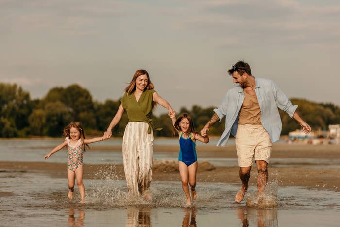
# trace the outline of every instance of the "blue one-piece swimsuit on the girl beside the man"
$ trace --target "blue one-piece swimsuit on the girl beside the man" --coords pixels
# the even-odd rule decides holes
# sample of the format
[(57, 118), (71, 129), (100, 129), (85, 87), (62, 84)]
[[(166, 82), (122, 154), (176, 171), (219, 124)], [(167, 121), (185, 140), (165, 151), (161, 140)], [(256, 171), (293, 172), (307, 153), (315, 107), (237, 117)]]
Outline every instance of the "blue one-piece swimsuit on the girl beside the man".
[(178, 160), (184, 162), (187, 166), (197, 161), (196, 143), (192, 141), (191, 133), (189, 137), (183, 138), (183, 132), (179, 138), (179, 155)]

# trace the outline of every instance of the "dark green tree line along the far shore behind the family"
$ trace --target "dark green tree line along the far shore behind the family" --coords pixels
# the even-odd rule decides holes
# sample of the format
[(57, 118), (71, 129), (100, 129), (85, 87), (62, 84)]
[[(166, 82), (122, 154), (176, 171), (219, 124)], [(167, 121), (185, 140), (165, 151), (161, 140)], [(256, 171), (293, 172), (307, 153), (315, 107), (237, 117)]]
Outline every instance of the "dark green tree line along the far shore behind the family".
[[(299, 105), (298, 112), (313, 129), (327, 129), (329, 124), (340, 123), (340, 107), (332, 103), (316, 103), (304, 99), (291, 99)], [(68, 87), (53, 87), (42, 99), (31, 99), (28, 91), (17, 84), (0, 83), (0, 137), (50, 136), (61, 137), (64, 127), (72, 121), (83, 124), (86, 135), (101, 135), (116, 114), (120, 99), (98, 102), (91, 93), (77, 84)], [(213, 115), (215, 107), (202, 108), (193, 105), (182, 107), (177, 113), (188, 113), (193, 117), (195, 129), (203, 128)], [(280, 110), (282, 134), (300, 128), (286, 113)], [(122, 137), (128, 122), (126, 112), (113, 129), (113, 136)], [(163, 127), (154, 131), (155, 136), (171, 136), (172, 123), (167, 114), (153, 116), (153, 124)], [(215, 123), (210, 135), (221, 135), (225, 118)]]

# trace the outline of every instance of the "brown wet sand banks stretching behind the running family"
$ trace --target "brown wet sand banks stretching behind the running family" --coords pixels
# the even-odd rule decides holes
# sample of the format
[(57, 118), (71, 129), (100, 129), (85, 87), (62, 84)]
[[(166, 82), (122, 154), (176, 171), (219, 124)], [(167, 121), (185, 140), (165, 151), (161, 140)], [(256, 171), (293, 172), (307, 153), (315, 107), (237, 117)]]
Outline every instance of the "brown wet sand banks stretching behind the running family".
[[(97, 149), (97, 148), (96, 148)], [(111, 150), (113, 147), (99, 147), (97, 150)], [(116, 149), (121, 149), (117, 147)], [(178, 155), (177, 146), (155, 146), (155, 152), (170, 152), (174, 156)], [(235, 146), (198, 147), (199, 167), (197, 182), (213, 183), (240, 183), (238, 177), (237, 162), (233, 167), (211, 167), (209, 163), (204, 163), (204, 157), (236, 157)], [(340, 158), (340, 146), (336, 145), (307, 145), (307, 144), (274, 144), (272, 157), (280, 158)], [(154, 162), (153, 180), (179, 181), (179, 172), (176, 162), (163, 163)], [(24, 171), (24, 172), (45, 172), (51, 177), (66, 178), (66, 164), (48, 162), (4, 162), (0, 161), (2, 171)], [(105, 171), (114, 171), (115, 177), (124, 180), (124, 169), (122, 165), (100, 165), (84, 164), (85, 179), (103, 179)], [(253, 168), (250, 185), (256, 185), (257, 171)], [(306, 166), (276, 167), (269, 165), (269, 180), (276, 180), (280, 186), (304, 186), (308, 189), (327, 189), (339, 191), (340, 175), (338, 168), (327, 168), (320, 165), (318, 168)], [(0, 194), (0, 196), (4, 196)]]

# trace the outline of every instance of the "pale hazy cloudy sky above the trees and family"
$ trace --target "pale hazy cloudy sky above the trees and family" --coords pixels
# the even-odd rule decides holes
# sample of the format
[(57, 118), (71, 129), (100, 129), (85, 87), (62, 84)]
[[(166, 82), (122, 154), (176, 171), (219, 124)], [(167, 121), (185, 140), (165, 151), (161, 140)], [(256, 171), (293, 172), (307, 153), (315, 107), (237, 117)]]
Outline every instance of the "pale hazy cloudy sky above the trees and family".
[(31, 98), (77, 83), (118, 100), (145, 69), (176, 111), (218, 106), (242, 59), (289, 98), (340, 105), (338, 0), (0, 0), (0, 18), (0, 82)]

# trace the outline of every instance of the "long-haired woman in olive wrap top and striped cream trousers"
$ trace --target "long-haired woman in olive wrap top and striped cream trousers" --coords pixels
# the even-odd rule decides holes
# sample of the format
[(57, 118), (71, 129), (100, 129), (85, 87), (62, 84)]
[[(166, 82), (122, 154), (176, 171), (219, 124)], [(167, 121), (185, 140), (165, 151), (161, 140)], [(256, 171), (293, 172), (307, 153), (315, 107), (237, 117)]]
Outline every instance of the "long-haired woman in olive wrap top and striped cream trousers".
[[(153, 164), (153, 131), (151, 111), (156, 103), (168, 109), (168, 114), (174, 110), (162, 99), (150, 81), (146, 70), (137, 70), (125, 94), (121, 99), (118, 111), (112, 119), (107, 131), (111, 137), (112, 128), (120, 121), (126, 110), (129, 123), (123, 136), (123, 164), (127, 187), (133, 195), (142, 195), (146, 200), (151, 197), (148, 193), (152, 178)], [(161, 128), (154, 128), (160, 130)]]

